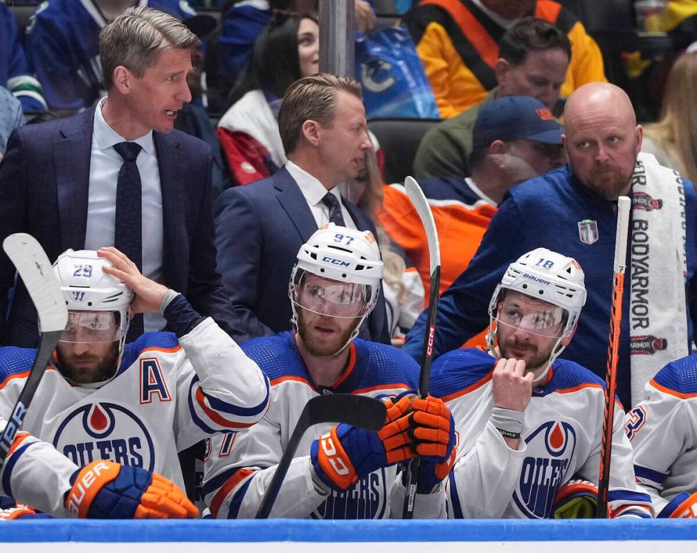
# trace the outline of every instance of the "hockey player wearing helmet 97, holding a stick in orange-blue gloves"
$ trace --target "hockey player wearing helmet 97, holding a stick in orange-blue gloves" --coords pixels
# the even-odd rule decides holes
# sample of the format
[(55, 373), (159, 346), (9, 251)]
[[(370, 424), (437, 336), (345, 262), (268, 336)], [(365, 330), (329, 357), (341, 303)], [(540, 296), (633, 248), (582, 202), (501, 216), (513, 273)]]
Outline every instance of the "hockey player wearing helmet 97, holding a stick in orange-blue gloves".
[(377, 301), (382, 272), (370, 232), (330, 223), (302, 245), (289, 285), (295, 330), (242, 346), (271, 381), (269, 411), (248, 432), (213, 437), (208, 444), (204, 497), (213, 516), (254, 517), (303, 407), (319, 394), (394, 403), (388, 401), (380, 432), (345, 424), (306, 432), (272, 517), (389, 517), (397, 462), (415, 455), (441, 462), (450, 456), (454, 427), (443, 402), (408, 395), (418, 386), (415, 361), (393, 347), (356, 338)]

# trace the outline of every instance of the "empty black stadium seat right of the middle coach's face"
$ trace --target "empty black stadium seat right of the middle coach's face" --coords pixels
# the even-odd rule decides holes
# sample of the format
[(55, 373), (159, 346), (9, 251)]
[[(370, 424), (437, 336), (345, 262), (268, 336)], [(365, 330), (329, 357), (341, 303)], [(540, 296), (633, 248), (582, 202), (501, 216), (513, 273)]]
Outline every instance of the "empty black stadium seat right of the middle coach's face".
[(401, 183), (411, 174), (412, 162), (419, 142), (426, 131), (441, 119), (408, 119), (376, 117), (368, 120), (368, 128), (376, 137), (385, 155), (385, 182)]

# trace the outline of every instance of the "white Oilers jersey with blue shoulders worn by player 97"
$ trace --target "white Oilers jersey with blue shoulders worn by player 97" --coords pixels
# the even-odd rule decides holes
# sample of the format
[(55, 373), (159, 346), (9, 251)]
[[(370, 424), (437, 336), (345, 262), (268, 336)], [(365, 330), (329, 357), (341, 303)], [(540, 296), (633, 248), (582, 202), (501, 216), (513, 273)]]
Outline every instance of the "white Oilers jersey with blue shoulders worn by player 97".
[[(308, 400), (321, 393), (353, 393), (369, 397), (396, 397), (414, 390), (419, 368), (398, 349), (353, 340), (349, 364), (330, 389), (314, 385), (292, 332), (256, 338), (242, 349), (271, 381), (267, 414), (247, 432), (210, 439), (204, 462), (204, 497), (219, 518), (251, 518)], [(318, 493), (312, 483), (309, 450), (312, 441), (328, 432), (330, 424), (311, 427), (300, 440), (296, 457), (283, 481), (272, 517), (321, 519), (386, 518), (397, 467), (374, 471), (346, 492)]]

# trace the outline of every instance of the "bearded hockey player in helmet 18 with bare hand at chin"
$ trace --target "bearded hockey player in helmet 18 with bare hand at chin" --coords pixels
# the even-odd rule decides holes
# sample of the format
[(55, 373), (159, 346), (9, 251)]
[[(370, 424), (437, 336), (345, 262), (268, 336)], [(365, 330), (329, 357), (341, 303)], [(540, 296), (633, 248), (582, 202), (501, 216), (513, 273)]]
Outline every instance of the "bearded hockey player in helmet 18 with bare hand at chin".
[[(445, 486), (421, 494), (416, 508), (455, 518), (595, 515), (604, 383), (558, 358), (585, 303), (583, 280), (570, 257), (526, 253), (491, 298), (489, 351), (460, 349), (434, 362), (431, 393), (452, 411), (457, 461)], [(624, 413), (615, 409), (609, 511), (651, 517), (634, 480)]]

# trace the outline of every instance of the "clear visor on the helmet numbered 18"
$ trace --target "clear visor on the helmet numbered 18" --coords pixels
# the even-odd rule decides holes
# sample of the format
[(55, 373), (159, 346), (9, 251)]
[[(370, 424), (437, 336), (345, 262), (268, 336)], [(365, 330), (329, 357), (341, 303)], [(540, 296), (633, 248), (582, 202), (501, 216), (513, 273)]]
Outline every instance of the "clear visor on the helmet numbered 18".
[(536, 301), (523, 294), (505, 294), (496, 301), (496, 313), (489, 315), (500, 325), (546, 338), (561, 338), (569, 313), (558, 305)]

